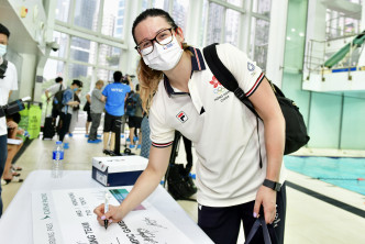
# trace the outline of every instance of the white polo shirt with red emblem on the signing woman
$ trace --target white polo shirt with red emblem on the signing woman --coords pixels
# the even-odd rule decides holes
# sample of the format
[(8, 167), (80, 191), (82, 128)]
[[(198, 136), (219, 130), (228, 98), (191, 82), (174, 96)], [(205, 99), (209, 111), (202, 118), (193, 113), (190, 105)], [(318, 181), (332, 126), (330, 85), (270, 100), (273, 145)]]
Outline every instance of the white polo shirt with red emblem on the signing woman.
[[(228, 207), (253, 201), (266, 177), (264, 124), (213, 77), (201, 52), (191, 48), (192, 74), (189, 92), (173, 88), (167, 78), (159, 82), (150, 111), (153, 146), (169, 146), (174, 131), (191, 140), (198, 156), (196, 169), (198, 202)], [(262, 69), (231, 44), (217, 46), (222, 63), (250, 97), (264, 78)], [(281, 166), (280, 182), (285, 170)]]

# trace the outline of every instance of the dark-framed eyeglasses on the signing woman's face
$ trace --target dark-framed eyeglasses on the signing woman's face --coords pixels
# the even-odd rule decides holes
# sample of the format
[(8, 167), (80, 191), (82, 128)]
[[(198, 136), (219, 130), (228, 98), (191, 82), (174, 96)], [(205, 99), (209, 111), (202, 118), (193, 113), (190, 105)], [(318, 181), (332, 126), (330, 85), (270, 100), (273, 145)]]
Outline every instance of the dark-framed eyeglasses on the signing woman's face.
[(134, 48), (143, 56), (146, 56), (153, 52), (153, 42), (156, 42), (159, 45), (166, 45), (173, 42), (173, 27), (162, 30), (154, 38), (142, 41)]

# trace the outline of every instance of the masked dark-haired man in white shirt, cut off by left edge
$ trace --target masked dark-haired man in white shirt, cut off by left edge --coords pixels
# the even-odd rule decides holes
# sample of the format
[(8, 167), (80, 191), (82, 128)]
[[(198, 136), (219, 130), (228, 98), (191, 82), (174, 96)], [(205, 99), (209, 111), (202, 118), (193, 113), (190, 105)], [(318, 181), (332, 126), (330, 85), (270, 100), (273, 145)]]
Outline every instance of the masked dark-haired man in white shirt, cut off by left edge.
[[(0, 23), (0, 109), (8, 104), (13, 90), (18, 90), (18, 73), (13, 63), (5, 59), (10, 32)], [(8, 157), (8, 126), (5, 117), (0, 118), (0, 178)], [(0, 186), (0, 218), (2, 215), (2, 199)]]

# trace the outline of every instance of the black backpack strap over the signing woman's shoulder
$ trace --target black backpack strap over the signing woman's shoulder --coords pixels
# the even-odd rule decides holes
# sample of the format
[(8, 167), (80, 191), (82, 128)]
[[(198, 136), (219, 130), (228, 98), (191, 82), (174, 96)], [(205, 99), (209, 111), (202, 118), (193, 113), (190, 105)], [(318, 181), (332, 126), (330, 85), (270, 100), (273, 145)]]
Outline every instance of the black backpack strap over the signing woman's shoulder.
[[(253, 104), (247, 99), (245, 92), (239, 87), (237, 80), (234, 78), (232, 73), (223, 65), (217, 53), (218, 43), (213, 43), (202, 49), (204, 54), (206, 62), (213, 73), (215, 78), (225, 87), (228, 90), (232, 91), (240, 101), (242, 101), (256, 117), (258, 117)], [(259, 118), (259, 117), (258, 117)]]

